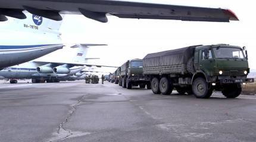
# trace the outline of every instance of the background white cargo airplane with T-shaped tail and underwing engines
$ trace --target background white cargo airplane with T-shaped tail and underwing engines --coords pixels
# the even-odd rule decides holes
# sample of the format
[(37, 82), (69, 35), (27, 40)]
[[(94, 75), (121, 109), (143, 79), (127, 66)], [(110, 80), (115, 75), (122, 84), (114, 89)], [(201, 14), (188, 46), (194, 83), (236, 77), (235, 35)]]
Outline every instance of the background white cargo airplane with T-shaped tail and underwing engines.
[(16, 79), (32, 79), (33, 83), (42, 83), (45, 81), (59, 82), (61, 78), (67, 78), (68, 76), (80, 77), (83, 75), (80, 72), (85, 69), (85, 66), (102, 67), (102, 65), (87, 63), (88, 60), (98, 59), (86, 58), (90, 46), (107, 46), (107, 44), (76, 44), (71, 47), (77, 48), (71, 62), (32, 61), (0, 70), (0, 76), (10, 79), (10, 83), (17, 83)]

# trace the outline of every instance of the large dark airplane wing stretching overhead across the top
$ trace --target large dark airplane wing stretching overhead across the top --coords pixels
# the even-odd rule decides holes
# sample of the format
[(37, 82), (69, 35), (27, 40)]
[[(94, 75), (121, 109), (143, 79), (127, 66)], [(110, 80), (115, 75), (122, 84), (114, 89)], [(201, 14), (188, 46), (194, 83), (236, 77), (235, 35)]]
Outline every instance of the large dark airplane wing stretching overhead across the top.
[(24, 19), (26, 15), (23, 10), (51, 20), (62, 20), (60, 13), (64, 13), (83, 14), (100, 22), (108, 21), (106, 15), (182, 21), (238, 21), (238, 17), (229, 9), (113, 0), (0, 0), (0, 21), (6, 21), (5, 16)]

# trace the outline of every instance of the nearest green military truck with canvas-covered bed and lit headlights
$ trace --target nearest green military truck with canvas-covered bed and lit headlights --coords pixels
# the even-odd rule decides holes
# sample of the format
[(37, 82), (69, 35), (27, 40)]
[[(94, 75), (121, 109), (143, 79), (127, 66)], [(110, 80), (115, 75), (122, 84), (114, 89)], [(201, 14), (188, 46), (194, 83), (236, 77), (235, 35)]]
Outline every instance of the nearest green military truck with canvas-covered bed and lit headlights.
[(248, 56), (245, 47), (217, 44), (191, 46), (148, 54), (143, 59), (143, 75), (151, 78), (156, 94), (193, 93), (210, 98), (213, 90), (227, 98), (236, 98), (247, 79)]

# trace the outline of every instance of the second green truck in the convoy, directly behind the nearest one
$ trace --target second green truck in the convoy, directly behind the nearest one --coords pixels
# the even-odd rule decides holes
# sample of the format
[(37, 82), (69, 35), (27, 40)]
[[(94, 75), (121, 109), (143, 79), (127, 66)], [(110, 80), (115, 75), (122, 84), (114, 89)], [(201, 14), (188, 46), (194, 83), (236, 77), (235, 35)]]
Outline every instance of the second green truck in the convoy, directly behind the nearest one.
[(143, 60), (128, 60), (120, 67), (120, 85), (123, 88), (132, 89), (132, 86), (151, 89), (150, 80), (143, 76)]

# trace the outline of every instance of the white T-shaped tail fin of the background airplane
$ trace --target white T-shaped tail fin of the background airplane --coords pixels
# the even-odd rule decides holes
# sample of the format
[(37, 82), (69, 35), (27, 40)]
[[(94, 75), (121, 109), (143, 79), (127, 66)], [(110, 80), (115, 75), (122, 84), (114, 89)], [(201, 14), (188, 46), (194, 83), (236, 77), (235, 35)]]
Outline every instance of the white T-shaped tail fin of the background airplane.
[(99, 58), (87, 58), (88, 49), (92, 46), (107, 46), (107, 44), (76, 44), (71, 48), (77, 48), (77, 52), (74, 55), (74, 63), (86, 63), (88, 60), (95, 60)]

